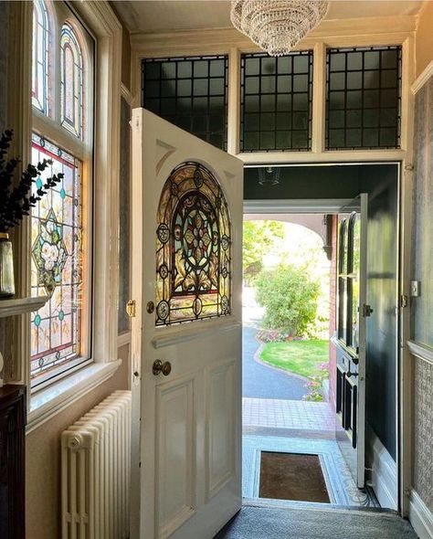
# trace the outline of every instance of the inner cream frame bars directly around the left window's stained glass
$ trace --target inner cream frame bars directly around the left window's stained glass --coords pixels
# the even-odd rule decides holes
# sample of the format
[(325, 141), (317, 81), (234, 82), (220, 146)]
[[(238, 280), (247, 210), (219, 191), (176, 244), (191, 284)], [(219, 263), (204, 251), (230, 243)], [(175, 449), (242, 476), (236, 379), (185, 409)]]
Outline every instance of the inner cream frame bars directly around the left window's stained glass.
[[(90, 35), (88, 28), (79, 20), (68, 4), (55, 2), (49, 5), (51, 0), (45, 0), (48, 12), (48, 24), (51, 25), (53, 39), (51, 42), (50, 54), (52, 55), (51, 73), (48, 73), (48, 80), (54, 83), (51, 90), (52, 116), (46, 115), (32, 106), (32, 132), (36, 133), (51, 143), (55, 143), (59, 148), (73, 155), (79, 160), (81, 176), (81, 225), (86, 231), (85, 245), (83, 246), (83, 267), (82, 267), (82, 295), (88, 298), (81, 309), (79, 319), (79, 354), (66, 361), (64, 364), (49, 369), (47, 373), (40, 376), (29, 376), (29, 386), (31, 392), (36, 392), (50, 384), (55, 384), (58, 379), (69, 375), (77, 369), (90, 365), (91, 358), (91, 303), (92, 303), (92, 206), (93, 206), (93, 125), (94, 125), (94, 72), (96, 62), (93, 51), (96, 48), (95, 38)], [(49, 21), (49, 17), (51, 20)], [(60, 84), (61, 50), (60, 35), (63, 26), (69, 25), (79, 43), (80, 53), (83, 62), (83, 103), (82, 110), (90, 111), (85, 118), (81, 118), (82, 140), (63, 126), (61, 120), (61, 97), (62, 90)], [(82, 27), (79, 27), (82, 26)], [(49, 58), (49, 57), (48, 57)], [(31, 217), (30, 217), (31, 227)], [(31, 257), (31, 255), (30, 255)], [(29, 355), (30, 357), (30, 355)]]

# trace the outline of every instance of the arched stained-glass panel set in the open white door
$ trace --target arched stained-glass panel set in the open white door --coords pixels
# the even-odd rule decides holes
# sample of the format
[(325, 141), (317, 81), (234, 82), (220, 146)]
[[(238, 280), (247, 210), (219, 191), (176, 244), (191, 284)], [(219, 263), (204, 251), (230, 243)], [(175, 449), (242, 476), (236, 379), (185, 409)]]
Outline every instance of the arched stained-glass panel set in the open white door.
[(180, 164), (157, 213), (156, 325), (229, 314), (230, 252), (221, 186), (202, 164)]

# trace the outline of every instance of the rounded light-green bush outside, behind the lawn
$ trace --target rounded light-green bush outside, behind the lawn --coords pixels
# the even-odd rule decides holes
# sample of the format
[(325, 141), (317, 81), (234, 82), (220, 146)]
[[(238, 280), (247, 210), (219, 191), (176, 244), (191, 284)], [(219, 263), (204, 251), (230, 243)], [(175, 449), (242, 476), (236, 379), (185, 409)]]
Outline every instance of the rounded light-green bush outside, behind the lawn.
[(262, 270), (256, 286), (257, 301), (265, 307), (263, 327), (291, 337), (308, 333), (316, 320), (320, 285), (306, 268), (281, 263), (274, 270)]

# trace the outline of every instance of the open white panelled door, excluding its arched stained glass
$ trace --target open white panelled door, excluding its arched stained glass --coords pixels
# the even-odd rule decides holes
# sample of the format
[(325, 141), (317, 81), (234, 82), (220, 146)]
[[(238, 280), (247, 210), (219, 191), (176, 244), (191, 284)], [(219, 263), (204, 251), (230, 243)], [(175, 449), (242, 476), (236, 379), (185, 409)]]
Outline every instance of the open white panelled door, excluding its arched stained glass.
[[(185, 161), (209, 168), (227, 199), (232, 313), (155, 327), (145, 307), (155, 301), (156, 212), (166, 179)], [(242, 168), (152, 112), (132, 111), (133, 428), (140, 430), (132, 433), (140, 446), (132, 449), (132, 539), (211, 539), (241, 506)], [(156, 359), (171, 363), (170, 375), (153, 375)]]

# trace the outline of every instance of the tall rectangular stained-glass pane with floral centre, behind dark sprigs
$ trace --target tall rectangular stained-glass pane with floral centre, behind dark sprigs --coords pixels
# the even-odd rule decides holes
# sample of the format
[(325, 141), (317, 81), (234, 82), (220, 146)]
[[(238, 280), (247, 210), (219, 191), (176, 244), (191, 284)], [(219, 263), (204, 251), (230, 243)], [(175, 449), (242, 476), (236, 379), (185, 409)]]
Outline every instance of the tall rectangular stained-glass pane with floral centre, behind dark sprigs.
[[(43, 173), (64, 178), (43, 196), (31, 215), (31, 289), (33, 296), (51, 296), (32, 313), (32, 377), (64, 365), (79, 354), (80, 291), (82, 283), (82, 218), (80, 164), (53, 143), (32, 138), (32, 162), (53, 164)], [(42, 178), (43, 179), (43, 178)], [(38, 180), (39, 187), (43, 184)]]

